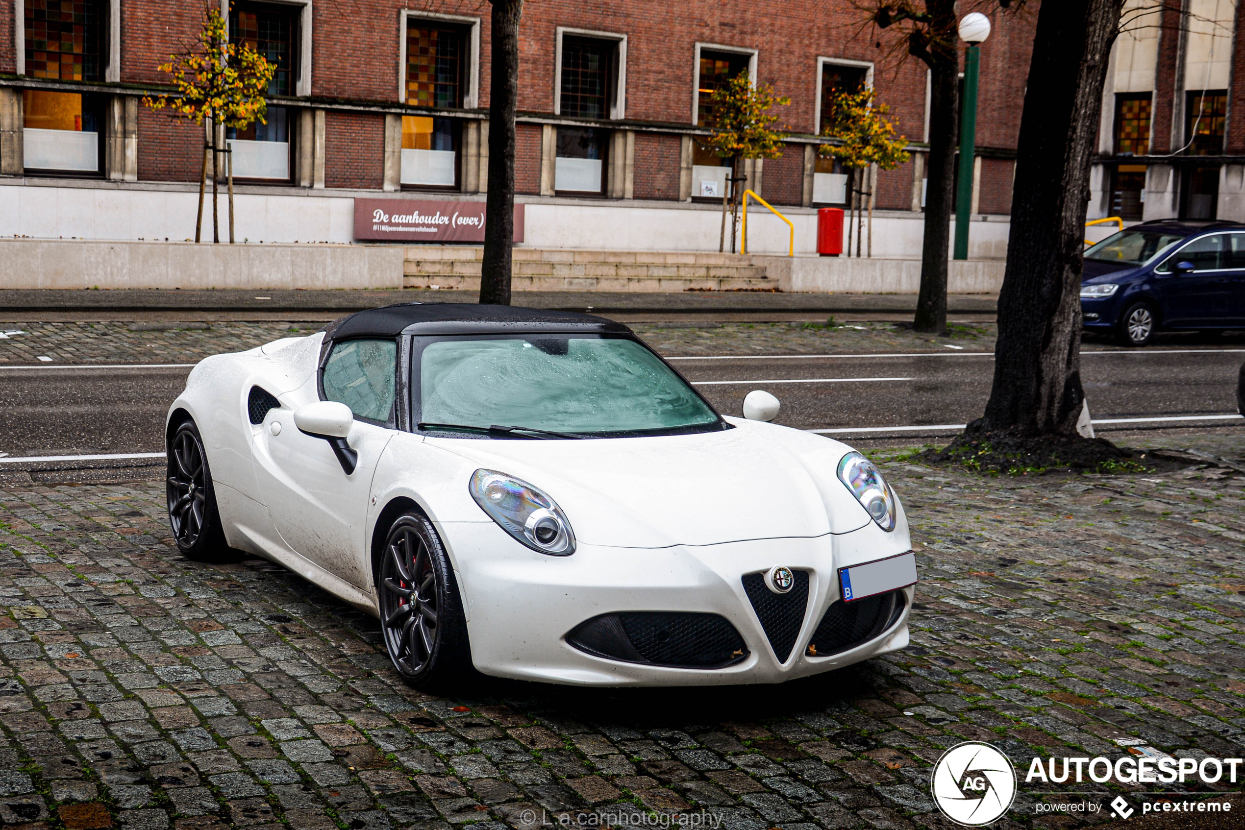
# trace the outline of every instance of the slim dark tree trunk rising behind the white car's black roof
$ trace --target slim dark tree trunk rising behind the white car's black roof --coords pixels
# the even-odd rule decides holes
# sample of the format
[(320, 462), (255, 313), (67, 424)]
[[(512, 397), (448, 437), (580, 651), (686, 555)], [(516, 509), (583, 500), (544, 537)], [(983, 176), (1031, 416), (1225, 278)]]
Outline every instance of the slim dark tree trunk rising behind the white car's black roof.
[(492, 75), (488, 106), (488, 202), (479, 301), (510, 305), (514, 248), (514, 114), (519, 101), (519, 17), (523, 0), (491, 0)]

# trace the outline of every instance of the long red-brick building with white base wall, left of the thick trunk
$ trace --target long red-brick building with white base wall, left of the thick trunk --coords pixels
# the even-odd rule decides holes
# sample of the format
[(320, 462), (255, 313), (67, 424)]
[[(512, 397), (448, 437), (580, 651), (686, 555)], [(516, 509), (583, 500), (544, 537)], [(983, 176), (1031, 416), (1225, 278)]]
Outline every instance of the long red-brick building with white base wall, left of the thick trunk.
[[(483, 198), (487, 4), (222, 4), (230, 36), (278, 65), (268, 123), (228, 136), (240, 238), (350, 241), (359, 197)], [(194, 2), (0, 0), (0, 32), (11, 32), (0, 37), (0, 235), (189, 235), (203, 128), (141, 97), (167, 81), (157, 65), (200, 22)], [(1006, 240), (1032, 22), (996, 15), (982, 47), (974, 213), (1002, 233), (975, 226), (977, 255), (1001, 255)], [(919, 251), (926, 71), (900, 60), (849, 0), (543, 0), (525, 6), (519, 44), (515, 178), (528, 244), (716, 250), (727, 183), (701, 146), (707, 98), (747, 70), (792, 100), (782, 157), (746, 172), (801, 223), (802, 244), (814, 209), (848, 192), (847, 172), (817, 156), (822, 101), (837, 87), (876, 90), (914, 153), (858, 182), (881, 223), (874, 254)], [(772, 224), (768, 233), (757, 219), (756, 246), (784, 251), (784, 226)]]

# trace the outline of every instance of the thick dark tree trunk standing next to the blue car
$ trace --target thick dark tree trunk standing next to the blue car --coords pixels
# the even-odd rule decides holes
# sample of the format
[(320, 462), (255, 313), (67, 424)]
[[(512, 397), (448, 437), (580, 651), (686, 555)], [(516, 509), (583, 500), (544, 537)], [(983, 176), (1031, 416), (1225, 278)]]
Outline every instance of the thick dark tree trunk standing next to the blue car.
[(974, 431), (1074, 436), (1089, 161), (1122, 0), (1046, 0), (1016, 148), (995, 382)]

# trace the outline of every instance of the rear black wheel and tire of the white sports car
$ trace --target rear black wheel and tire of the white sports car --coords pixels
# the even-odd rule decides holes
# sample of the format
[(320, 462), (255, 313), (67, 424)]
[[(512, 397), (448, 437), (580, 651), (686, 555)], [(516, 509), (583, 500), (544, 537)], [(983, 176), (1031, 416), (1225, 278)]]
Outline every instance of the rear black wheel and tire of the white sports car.
[(212, 468), (193, 419), (178, 424), (168, 439), (166, 479), (168, 524), (187, 559), (213, 561), (230, 554), (217, 508)]

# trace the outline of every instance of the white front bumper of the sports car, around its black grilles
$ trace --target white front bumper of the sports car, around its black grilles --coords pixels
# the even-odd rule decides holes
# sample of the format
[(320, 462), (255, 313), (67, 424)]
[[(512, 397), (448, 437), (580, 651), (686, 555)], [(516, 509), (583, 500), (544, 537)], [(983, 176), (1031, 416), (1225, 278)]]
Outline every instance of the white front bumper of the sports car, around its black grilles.
[[(879, 636), (829, 657), (807, 653), (827, 607), (840, 599), (837, 569), (908, 550), (906, 534), (873, 523), (813, 539), (660, 549), (580, 544), (560, 557), (519, 545), (492, 523), (446, 523), (439, 530), (468, 612), (472, 661), (486, 674), (578, 686), (779, 683), (908, 645), (911, 587), (904, 590), (901, 615)], [(742, 582), (774, 565), (808, 571), (799, 635), (782, 662)], [(671, 668), (606, 660), (566, 642), (585, 620), (622, 611), (720, 615), (743, 637), (747, 657), (725, 668)]]

